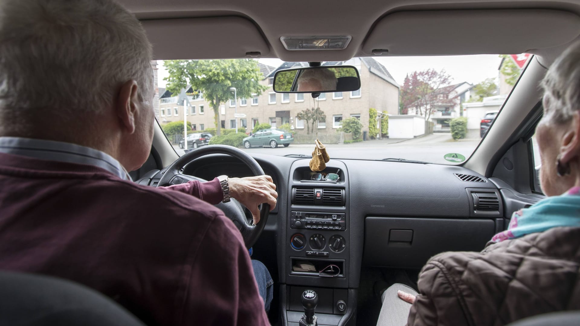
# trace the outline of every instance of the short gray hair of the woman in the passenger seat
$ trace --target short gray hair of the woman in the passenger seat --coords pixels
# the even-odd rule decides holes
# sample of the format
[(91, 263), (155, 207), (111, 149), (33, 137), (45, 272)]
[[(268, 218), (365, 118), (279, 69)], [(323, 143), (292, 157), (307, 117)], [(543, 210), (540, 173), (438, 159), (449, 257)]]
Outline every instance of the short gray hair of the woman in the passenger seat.
[(569, 121), (580, 110), (580, 42), (571, 45), (552, 63), (540, 85), (545, 110), (557, 122)]

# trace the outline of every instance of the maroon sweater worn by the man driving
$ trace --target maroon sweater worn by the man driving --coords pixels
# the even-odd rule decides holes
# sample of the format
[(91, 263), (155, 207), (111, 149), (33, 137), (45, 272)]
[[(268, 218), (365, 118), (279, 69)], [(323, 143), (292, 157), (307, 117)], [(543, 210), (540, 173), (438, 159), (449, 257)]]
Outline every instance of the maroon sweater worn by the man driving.
[(269, 325), (240, 232), (191, 194), (212, 191), (0, 154), (0, 269), (88, 285), (148, 325)]

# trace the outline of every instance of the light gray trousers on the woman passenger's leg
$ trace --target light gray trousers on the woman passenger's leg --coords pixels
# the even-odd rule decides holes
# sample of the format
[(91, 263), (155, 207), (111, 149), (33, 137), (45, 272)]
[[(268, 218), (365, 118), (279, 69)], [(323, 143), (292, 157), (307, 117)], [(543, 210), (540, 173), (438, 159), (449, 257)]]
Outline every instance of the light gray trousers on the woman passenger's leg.
[(377, 326), (407, 325), (411, 303), (404, 302), (399, 298), (397, 295), (398, 290), (417, 295), (414, 289), (399, 283), (387, 288), (381, 297), (383, 306), (380, 308), (379, 320), (376, 323)]

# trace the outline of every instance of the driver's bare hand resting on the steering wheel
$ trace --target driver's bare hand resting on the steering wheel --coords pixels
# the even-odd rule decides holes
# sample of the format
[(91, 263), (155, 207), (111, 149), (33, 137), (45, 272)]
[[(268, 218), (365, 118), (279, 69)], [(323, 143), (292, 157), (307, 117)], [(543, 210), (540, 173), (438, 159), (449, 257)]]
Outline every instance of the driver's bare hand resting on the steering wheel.
[(276, 184), (269, 175), (249, 176), (247, 178), (228, 178), (230, 195), (249, 209), (253, 224), (260, 222), (258, 205), (270, 204), (270, 211), (276, 207)]

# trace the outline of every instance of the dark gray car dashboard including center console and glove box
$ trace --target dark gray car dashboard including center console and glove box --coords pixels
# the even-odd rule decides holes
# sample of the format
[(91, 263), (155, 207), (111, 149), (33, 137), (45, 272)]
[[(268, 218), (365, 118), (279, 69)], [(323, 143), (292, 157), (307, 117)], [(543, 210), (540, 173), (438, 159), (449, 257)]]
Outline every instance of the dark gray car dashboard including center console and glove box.
[[(277, 186), (277, 206), (256, 246), (264, 239), (275, 256), (269, 269), (277, 271), (284, 324), (298, 325), (299, 297), (309, 288), (319, 295), (324, 324), (342, 325), (354, 314), (361, 266), (420, 268), (443, 251), (480, 251), (509, 222), (505, 189), (461, 166), (330, 160), (322, 172), (339, 179), (327, 182), (312, 180), (307, 159), (252, 156)], [(161, 173), (151, 172), (147, 184)], [(220, 154), (190, 162), (183, 173), (251, 175)]]

